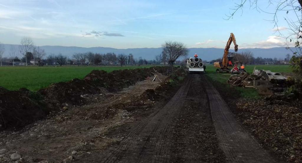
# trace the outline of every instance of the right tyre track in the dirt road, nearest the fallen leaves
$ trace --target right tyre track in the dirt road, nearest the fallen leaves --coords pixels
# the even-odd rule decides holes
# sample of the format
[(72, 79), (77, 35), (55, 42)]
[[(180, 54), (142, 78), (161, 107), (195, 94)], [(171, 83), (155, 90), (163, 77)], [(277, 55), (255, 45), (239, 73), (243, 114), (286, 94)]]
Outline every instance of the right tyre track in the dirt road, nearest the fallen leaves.
[(278, 162), (236, 121), (219, 92), (204, 78), (219, 146), (229, 162)]

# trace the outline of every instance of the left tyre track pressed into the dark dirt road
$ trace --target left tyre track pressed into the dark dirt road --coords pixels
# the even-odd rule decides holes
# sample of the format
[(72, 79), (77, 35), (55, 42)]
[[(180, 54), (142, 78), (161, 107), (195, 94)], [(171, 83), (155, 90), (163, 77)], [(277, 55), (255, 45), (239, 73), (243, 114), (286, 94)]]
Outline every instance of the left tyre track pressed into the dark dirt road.
[(167, 134), (183, 106), (191, 80), (159, 111), (135, 127), (119, 144), (104, 154), (102, 162), (168, 162)]

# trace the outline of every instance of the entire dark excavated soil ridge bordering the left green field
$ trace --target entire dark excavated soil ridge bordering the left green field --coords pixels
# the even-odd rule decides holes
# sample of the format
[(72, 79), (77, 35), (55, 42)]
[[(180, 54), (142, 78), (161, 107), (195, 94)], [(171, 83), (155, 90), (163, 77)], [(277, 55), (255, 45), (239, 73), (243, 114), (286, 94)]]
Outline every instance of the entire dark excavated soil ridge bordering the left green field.
[[(155, 73), (153, 68), (162, 74), (171, 72), (170, 67), (120, 70), (111, 73), (94, 70), (83, 80), (73, 79), (69, 82), (51, 84), (37, 93), (27, 89), (9, 91), (0, 87), (0, 130), (23, 127), (46, 117), (49, 111), (63, 108), (67, 103), (82, 105), (85, 103), (84, 95), (120, 91), (153, 76), (152, 73)], [(146, 96), (151, 96), (150, 93), (152, 94), (147, 92)]]

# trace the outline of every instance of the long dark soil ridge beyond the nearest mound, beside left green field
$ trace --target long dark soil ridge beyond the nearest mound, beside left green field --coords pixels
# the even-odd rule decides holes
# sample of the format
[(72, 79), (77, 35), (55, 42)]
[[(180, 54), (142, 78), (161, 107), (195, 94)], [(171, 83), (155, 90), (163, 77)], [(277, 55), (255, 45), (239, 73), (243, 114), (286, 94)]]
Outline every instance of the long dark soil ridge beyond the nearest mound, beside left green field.
[[(158, 72), (166, 72), (169, 67), (154, 67), (154, 69)], [(55, 83), (39, 92), (56, 103), (81, 105), (84, 103), (82, 95), (99, 94), (104, 91), (117, 92), (152, 76), (152, 72), (154, 72), (153, 68), (119, 70), (111, 73), (93, 70), (83, 80), (74, 79), (66, 83)]]

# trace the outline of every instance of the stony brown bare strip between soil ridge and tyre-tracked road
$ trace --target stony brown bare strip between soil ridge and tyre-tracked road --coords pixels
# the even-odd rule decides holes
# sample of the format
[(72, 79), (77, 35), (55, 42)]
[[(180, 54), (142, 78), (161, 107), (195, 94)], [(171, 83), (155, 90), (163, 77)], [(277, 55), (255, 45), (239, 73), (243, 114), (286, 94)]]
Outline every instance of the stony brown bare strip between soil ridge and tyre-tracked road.
[[(138, 112), (145, 114), (158, 105), (152, 99), (154, 96), (165, 94), (160, 92), (159, 95), (152, 90), (169, 84), (166, 82), (169, 77), (162, 75), (163, 82), (152, 82), (152, 79), (139, 81), (119, 92), (85, 95), (82, 97), (87, 102), (84, 105), (69, 105), (66, 110), (53, 113), (22, 130), (1, 132), (0, 146), (6, 150), (0, 155), (0, 162), (14, 162), (10, 159), (14, 152), (21, 155), (22, 161), (19, 162), (72, 162), (120, 143), (120, 138), (109, 138), (105, 133), (136, 121)], [(141, 107), (136, 106), (138, 103)], [(137, 110), (127, 111), (124, 106), (133, 106)], [(77, 152), (72, 155), (72, 151)]]

